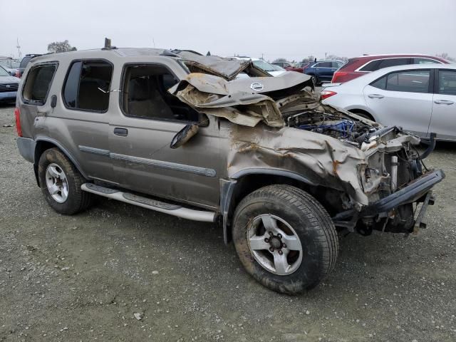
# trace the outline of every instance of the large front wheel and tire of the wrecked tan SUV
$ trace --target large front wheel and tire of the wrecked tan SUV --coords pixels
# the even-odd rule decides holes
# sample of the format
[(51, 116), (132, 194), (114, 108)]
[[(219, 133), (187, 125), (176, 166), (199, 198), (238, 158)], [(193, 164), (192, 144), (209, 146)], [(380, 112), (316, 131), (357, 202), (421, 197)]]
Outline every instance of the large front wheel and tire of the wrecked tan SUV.
[[(275, 226), (268, 223), (274, 220)], [(272, 227), (272, 235), (266, 227)], [(277, 292), (300, 294), (310, 290), (336, 264), (338, 236), (331, 218), (314, 197), (296, 187), (269, 185), (247, 195), (234, 212), (232, 233), (247, 272)], [(290, 246), (284, 245), (289, 242)]]

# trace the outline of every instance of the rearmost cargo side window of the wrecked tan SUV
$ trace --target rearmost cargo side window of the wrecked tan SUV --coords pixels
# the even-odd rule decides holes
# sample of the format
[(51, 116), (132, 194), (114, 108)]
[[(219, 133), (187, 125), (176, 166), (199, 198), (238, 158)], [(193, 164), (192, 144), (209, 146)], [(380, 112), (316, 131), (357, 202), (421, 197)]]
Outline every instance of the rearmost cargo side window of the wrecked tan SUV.
[(30, 71), (28, 71), (22, 90), (22, 98), (25, 103), (33, 105), (43, 105), (46, 103), (56, 70), (56, 63), (32, 66)]

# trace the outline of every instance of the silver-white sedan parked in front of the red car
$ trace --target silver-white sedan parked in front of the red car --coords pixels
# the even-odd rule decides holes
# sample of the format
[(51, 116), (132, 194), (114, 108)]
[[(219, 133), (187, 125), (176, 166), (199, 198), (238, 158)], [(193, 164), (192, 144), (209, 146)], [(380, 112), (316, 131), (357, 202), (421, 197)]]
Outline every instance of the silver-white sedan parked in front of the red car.
[(321, 91), (323, 103), (420, 138), (456, 140), (456, 65), (384, 68)]

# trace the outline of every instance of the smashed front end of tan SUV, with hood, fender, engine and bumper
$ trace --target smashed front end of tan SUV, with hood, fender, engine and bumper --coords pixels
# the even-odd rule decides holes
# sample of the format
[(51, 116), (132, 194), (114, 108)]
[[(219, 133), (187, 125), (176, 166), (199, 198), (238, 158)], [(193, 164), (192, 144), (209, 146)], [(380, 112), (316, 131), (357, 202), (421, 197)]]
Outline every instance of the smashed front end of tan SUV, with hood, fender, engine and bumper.
[(313, 88), (309, 76), (234, 76), (190, 73), (169, 90), (200, 113), (235, 124), (227, 160), (231, 180), (244, 170), (299, 175), (336, 227), (365, 235), (423, 227), (431, 189), (445, 175), (424, 167), (415, 148), (419, 138), (322, 105), (304, 90)]

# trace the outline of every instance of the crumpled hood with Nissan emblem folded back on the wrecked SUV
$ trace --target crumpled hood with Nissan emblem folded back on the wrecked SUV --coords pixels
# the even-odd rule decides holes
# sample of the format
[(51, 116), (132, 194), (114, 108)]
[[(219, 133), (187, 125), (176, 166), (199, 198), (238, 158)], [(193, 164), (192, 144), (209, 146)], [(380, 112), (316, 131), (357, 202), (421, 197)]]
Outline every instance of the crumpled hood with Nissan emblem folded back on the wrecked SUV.
[(310, 76), (295, 72), (233, 81), (206, 73), (190, 73), (168, 91), (199, 112), (227, 118), (232, 123), (254, 127), (262, 120), (271, 127), (283, 127), (285, 123), (276, 99), (306, 86), (313, 86)]

